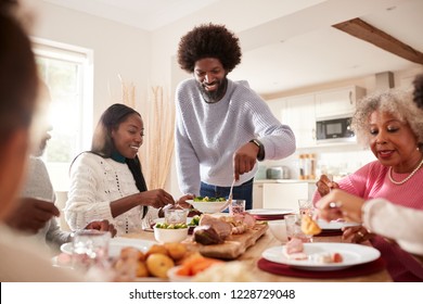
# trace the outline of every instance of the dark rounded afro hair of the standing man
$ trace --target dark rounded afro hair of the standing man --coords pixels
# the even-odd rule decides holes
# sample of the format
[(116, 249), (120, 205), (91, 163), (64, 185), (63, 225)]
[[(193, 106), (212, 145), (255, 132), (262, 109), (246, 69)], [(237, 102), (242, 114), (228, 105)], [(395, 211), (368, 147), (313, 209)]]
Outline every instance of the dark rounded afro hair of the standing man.
[(218, 59), (227, 73), (241, 63), (239, 38), (223, 25), (203, 24), (194, 27), (179, 42), (178, 63), (189, 73), (204, 58)]

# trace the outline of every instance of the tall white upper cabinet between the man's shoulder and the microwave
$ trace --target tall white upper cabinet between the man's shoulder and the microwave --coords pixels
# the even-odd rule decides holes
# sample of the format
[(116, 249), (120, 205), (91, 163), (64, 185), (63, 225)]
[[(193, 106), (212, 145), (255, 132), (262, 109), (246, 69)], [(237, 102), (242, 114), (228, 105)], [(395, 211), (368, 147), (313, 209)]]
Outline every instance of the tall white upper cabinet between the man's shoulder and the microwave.
[(283, 123), (292, 128), (297, 148), (316, 147), (316, 110), (313, 94), (287, 98), (282, 118)]

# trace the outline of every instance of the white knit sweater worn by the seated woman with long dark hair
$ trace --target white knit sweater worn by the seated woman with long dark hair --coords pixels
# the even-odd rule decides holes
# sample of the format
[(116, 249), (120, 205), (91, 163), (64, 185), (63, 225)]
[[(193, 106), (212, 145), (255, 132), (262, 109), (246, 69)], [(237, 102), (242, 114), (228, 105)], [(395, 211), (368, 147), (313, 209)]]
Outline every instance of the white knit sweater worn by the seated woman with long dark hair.
[(111, 202), (140, 192), (127, 164), (103, 159), (93, 153), (79, 155), (70, 168), (70, 187), (65, 217), (73, 230), (82, 229), (92, 220), (108, 219), (117, 236), (139, 232), (148, 227), (148, 218), (157, 218), (157, 210), (149, 208), (142, 220), (142, 207), (112, 216)]

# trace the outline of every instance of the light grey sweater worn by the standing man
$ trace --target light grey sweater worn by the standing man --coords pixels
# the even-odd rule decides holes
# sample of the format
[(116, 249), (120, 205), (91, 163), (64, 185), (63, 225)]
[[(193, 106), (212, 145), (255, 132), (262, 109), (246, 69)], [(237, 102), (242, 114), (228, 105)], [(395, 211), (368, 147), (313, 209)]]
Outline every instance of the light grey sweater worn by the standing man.
[[(201, 181), (229, 187), (233, 180), (233, 153), (258, 138), (265, 160), (280, 160), (294, 153), (291, 128), (273, 116), (267, 103), (246, 81), (231, 81), (225, 97), (206, 103), (195, 79), (176, 90), (176, 166), (182, 193), (200, 194)], [(235, 183), (254, 177), (257, 165)]]

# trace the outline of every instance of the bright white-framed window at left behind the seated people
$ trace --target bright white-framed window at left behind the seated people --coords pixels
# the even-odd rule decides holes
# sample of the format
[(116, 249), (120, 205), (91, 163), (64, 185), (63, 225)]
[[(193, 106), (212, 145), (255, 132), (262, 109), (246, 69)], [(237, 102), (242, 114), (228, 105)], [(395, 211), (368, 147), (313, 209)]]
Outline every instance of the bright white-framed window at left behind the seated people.
[(33, 39), (41, 78), (50, 89), (51, 139), (43, 160), (53, 187), (66, 191), (74, 157), (90, 148), (92, 135), (92, 51)]

